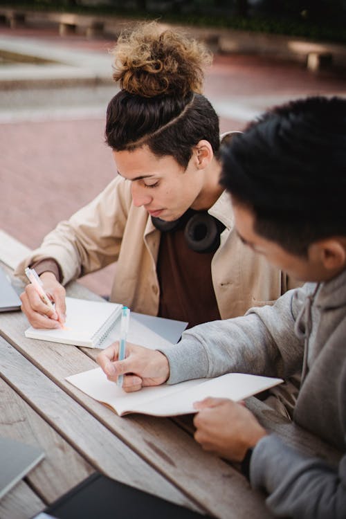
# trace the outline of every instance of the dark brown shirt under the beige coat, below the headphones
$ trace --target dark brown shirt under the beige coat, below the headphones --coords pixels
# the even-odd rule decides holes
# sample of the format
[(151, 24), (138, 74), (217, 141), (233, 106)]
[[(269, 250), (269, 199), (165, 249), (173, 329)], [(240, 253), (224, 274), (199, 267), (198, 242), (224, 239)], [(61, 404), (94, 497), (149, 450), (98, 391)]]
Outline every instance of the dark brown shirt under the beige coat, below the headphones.
[(192, 251), (182, 228), (162, 233), (157, 262), (159, 316), (188, 321), (189, 328), (220, 319), (212, 286), (214, 254)]

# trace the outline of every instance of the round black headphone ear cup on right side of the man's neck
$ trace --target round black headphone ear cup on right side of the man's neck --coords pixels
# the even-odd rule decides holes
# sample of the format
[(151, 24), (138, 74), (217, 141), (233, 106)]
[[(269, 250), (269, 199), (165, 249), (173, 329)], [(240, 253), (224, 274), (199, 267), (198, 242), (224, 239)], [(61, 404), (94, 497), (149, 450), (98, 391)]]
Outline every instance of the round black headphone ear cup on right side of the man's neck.
[(214, 252), (220, 244), (217, 222), (208, 212), (197, 213), (190, 218), (184, 235), (188, 246), (197, 253)]

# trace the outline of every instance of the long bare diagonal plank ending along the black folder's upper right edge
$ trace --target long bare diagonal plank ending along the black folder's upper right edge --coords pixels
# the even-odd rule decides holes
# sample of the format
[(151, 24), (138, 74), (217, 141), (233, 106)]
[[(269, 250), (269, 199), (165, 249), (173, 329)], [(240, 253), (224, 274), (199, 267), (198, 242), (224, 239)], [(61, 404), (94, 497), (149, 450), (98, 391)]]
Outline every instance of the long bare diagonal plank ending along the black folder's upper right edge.
[(190, 504), (172, 484), (143, 462), (133, 450), (39, 372), (3, 338), (0, 338), (0, 370), (3, 379), (93, 468), (173, 502)]

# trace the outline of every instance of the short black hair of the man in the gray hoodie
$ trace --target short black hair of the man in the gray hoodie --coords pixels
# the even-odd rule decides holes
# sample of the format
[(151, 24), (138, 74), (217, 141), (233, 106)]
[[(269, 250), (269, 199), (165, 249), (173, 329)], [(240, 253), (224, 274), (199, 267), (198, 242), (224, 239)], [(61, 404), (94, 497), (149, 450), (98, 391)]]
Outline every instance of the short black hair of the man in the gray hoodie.
[(346, 100), (275, 107), (221, 149), (221, 184), (286, 251), (346, 235)]

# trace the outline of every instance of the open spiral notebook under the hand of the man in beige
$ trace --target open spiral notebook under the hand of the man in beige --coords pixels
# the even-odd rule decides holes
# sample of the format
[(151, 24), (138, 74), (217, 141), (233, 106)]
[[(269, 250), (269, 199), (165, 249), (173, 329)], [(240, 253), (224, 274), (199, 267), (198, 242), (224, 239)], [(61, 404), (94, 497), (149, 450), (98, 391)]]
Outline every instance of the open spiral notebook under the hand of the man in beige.
[[(51, 340), (53, 343), (105, 348), (115, 340), (119, 340), (121, 308), (121, 304), (108, 301), (66, 298), (65, 329), (36, 329), (30, 326), (25, 331), (25, 336), (39, 340)], [(129, 343), (148, 348), (176, 343), (187, 325), (186, 322), (163, 320), (152, 316), (145, 316), (145, 321), (143, 321), (137, 315), (131, 313), (127, 340)], [(170, 340), (167, 340), (162, 334), (163, 321), (167, 331), (170, 332), (168, 335)], [(156, 329), (158, 329), (158, 333), (156, 333)]]

